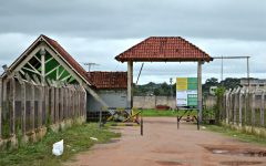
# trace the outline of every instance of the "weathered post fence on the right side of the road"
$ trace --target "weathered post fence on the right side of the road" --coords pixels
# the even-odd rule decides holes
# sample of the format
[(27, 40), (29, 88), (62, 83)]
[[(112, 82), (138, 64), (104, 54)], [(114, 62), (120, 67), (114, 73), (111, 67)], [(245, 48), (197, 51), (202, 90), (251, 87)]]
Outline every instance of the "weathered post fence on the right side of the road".
[(221, 120), (238, 126), (265, 127), (265, 90), (237, 87), (225, 92), (221, 102)]

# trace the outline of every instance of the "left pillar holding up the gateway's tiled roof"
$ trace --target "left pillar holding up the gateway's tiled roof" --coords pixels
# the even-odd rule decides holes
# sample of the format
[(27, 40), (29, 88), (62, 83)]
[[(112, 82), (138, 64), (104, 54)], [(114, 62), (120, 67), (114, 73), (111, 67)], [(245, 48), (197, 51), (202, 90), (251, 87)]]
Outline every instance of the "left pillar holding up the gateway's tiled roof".
[(133, 106), (133, 62), (127, 62), (127, 107)]

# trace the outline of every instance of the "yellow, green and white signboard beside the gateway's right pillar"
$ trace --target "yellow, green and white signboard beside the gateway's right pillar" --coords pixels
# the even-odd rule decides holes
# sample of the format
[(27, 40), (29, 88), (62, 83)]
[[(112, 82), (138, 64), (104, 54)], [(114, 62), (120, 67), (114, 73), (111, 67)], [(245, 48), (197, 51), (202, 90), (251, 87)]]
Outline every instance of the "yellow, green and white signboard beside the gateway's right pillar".
[(176, 105), (197, 106), (197, 77), (176, 77)]

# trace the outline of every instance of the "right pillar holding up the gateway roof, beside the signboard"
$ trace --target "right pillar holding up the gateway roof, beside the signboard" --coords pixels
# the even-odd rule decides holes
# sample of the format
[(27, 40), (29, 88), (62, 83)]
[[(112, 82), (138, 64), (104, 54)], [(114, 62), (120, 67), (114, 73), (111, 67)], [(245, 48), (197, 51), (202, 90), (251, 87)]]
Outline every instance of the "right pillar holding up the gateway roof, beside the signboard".
[(202, 61), (197, 62), (197, 108), (198, 108), (198, 121), (202, 123)]

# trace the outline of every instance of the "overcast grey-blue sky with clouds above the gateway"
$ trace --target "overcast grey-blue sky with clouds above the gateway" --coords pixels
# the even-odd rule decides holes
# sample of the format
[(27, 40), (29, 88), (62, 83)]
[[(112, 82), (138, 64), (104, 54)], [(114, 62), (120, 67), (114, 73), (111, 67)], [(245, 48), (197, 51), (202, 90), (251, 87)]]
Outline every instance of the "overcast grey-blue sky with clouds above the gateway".
[[(212, 56), (249, 55), (250, 76), (266, 79), (265, 9), (263, 0), (1, 1), (0, 65), (45, 34), (79, 63), (100, 64), (92, 70), (125, 71), (115, 55), (145, 38), (165, 35), (183, 37)], [(135, 79), (141, 63), (134, 65)], [(221, 60), (204, 64), (203, 72), (204, 80), (221, 79)], [(140, 83), (176, 76), (196, 76), (196, 63), (145, 63)], [(244, 76), (246, 60), (224, 60), (224, 77)]]

